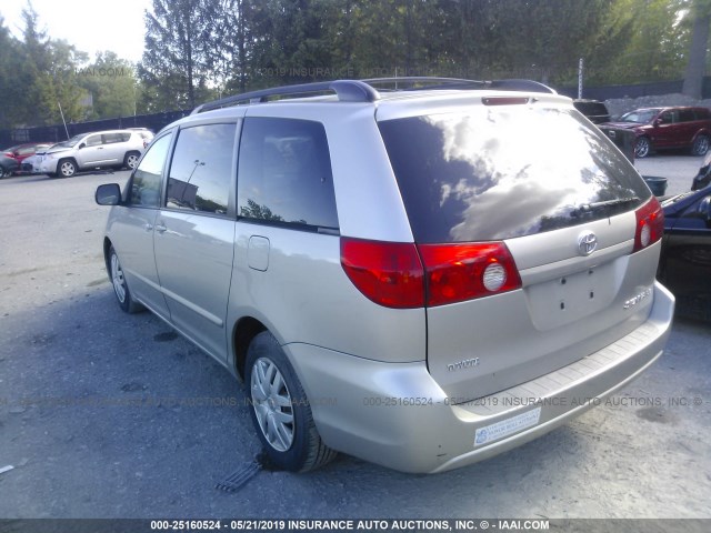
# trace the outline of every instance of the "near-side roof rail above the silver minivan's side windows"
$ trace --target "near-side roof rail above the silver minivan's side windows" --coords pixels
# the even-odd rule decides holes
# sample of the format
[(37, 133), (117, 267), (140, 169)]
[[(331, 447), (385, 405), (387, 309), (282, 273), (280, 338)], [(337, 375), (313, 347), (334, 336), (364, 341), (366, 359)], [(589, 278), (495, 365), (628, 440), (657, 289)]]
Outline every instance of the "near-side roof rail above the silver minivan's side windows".
[(267, 102), (272, 97), (300, 97), (314, 93), (336, 92), (342, 102), (373, 102), (380, 98), (378, 91), (359, 80), (319, 81), (298, 86), (274, 87), (260, 91), (246, 92), (233, 97), (222, 98), (213, 102), (198, 105), (192, 113), (201, 113), (211, 109), (219, 109), (240, 103)]

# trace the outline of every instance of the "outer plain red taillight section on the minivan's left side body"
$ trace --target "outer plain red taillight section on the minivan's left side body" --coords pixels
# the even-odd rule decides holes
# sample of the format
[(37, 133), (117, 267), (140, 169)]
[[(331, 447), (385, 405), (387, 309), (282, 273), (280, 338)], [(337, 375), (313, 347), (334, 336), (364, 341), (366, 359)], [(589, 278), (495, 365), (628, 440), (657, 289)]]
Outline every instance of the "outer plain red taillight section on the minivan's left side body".
[(358, 290), (380, 305), (424, 305), (424, 272), (412, 243), (341, 238), (341, 264)]

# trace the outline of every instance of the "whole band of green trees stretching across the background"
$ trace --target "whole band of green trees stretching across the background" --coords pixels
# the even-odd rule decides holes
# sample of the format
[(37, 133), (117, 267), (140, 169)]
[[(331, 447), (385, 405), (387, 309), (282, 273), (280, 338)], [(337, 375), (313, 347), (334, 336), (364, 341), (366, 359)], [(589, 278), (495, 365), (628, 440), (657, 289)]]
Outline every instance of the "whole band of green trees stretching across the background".
[(21, 39), (0, 17), (0, 128), (59, 123), (59, 104), (78, 121), (338, 78), (574, 86), (580, 58), (588, 86), (680, 79), (697, 58), (698, 86), (707, 17), (711, 0), (153, 0), (132, 66), (48, 38), (28, 2)]

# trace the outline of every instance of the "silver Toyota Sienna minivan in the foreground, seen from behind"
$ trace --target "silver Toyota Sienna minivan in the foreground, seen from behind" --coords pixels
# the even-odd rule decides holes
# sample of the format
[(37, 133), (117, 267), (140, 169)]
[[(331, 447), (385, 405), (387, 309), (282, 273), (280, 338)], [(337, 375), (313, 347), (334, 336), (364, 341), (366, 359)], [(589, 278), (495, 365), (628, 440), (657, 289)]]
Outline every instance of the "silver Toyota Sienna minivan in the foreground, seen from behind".
[(243, 380), (288, 470), (492, 456), (625, 386), (670, 332), (660, 204), (570, 99), (397, 83), (204, 104), (97, 191), (120, 306)]

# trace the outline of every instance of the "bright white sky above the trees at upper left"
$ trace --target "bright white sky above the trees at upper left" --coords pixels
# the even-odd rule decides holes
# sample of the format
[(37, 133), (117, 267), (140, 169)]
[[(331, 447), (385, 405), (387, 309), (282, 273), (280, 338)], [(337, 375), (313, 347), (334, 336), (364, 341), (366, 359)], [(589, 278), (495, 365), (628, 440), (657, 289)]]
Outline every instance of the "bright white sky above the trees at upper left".
[[(63, 39), (89, 53), (111, 50), (139, 61), (143, 53), (143, 11), (151, 0), (31, 0), (40, 27), (52, 39)], [(22, 9), (28, 0), (0, 0), (0, 14), (12, 34), (22, 34)]]

